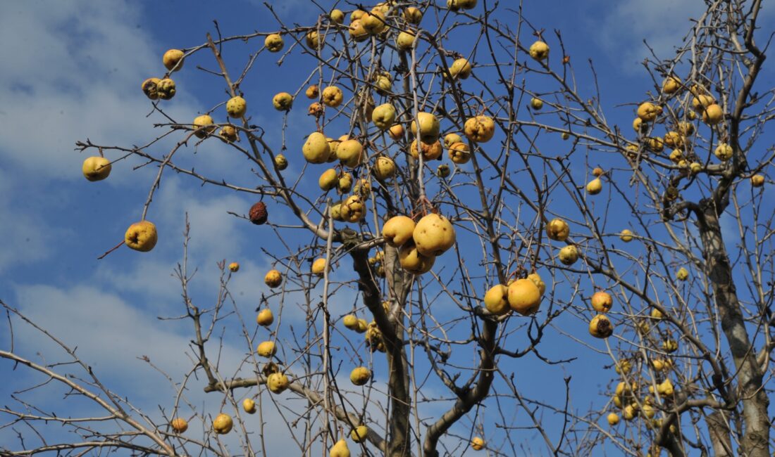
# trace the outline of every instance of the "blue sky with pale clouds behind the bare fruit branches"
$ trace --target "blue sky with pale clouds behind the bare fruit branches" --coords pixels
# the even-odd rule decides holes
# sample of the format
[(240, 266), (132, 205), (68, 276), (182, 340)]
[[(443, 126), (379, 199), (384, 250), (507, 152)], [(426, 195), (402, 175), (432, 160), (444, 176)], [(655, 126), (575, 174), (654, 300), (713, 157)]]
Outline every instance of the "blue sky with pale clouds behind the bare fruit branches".
[[(304, 0), (276, 3), (277, 13), (288, 23), (307, 24), (318, 14)], [(319, 3), (326, 9), (333, 5)], [(584, 71), (587, 57), (594, 60), (600, 85), (605, 88), (602, 102), (608, 107), (608, 118), (623, 128), (629, 128), (632, 107), (618, 105), (639, 100), (651, 88), (639, 65), (646, 55), (642, 39), (661, 55), (669, 55), (673, 43), (687, 29), (687, 18), (698, 11), (696, 4), (701, 7), (701, 2), (669, 0), (624, 0), (615, 5), (605, 0), (529, 3), (525, 15), (532, 26), (546, 29), (546, 36), (554, 29), (562, 31), (582, 92), (591, 89)], [(163, 73), (161, 55), (166, 49), (195, 46), (204, 43), (205, 32), (215, 34), (213, 19), (226, 36), (276, 28), (259, 1), (222, 2), (209, 7), (191, 7), (191, 2), (183, 1), (119, 0), (0, 5), (0, 41), (12, 43), (0, 47), (4, 63), (0, 120), (5, 128), (0, 137), (0, 232), (5, 235), (0, 251), (0, 298), (64, 342), (78, 346), (84, 360), (108, 385), (129, 394), (154, 414), (157, 404), (170, 408), (174, 390), (137, 357), (148, 355), (175, 375), (190, 367), (183, 355), (190, 338), (187, 328), (179, 322), (157, 319), (158, 315), (181, 313), (180, 287), (171, 273), (181, 261), (184, 213), (193, 227), (189, 264), (198, 268), (193, 285), (196, 299), (212, 302), (219, 284), (215, 262), (239, 261), (242, 268), (234, 275), (231, 290), (250, 321), (257, 305), (255, 297), (265, 292), (257, 278), (263, 278), (270, 264), (261, 250), (271, 250), (274, 241), (270, 236), (257, 236), (255, 227), (227, 214), (246, 212), (253, 203), (251, 198), (202, 188), (191, 179), (167, 173), (150, 211), (150, 219), (162, 234), (156, 249), (150, 254), (119, 249), (98, 261), (99, 254), (122, 239), (129, 223), (140, 218), (156, 169), (133, 170), (140, 162), (131, 159), (114, 165), (104, 182), (87, 182), (80, 171), (85, 156), (73, 149), (76, 141), (86, 138), (123, 146), (143, 145), (155, 138), (158, 129), (153, 129), (153, 121), (158, 119), (146, 118), (150, 102), (140, 92), (140, 83)], [(554, 36), (549, 39), (556, 41)], [(256, 46), (229, 46), (225, 57), (245, 59)], [(250, 103), (260, 101), (266, 106), (253, 112), (254, 121), (267, 131), (277, 131), (282, 118), (270, 109), (270, 99), (280, 90), (291, 91), (301, 84), (307, 76), (305, 60), (289, 59), (277, 68), (262, 55), (264, 58), (246, 83), (250, 84)], [(223, 84), (195, 70), (197, 64), (211, 65), (204, 53), (187, 60), (184, 70), (175, 75), (178, 93), (165, 104), (181, 121), (194, 118), (226, 97)], [(765, 77), (771, 81), (772, 73)], [(289, 129), (289, 137), (310, 130), (311, 121), (299, 108), (303, 107), (289, 115), (288, 121), (298, 124)], [(279, 140), (273, 141), (278, 147)], [(162, 142), (160, 152), (171, 144)], [(294, 154), (300, 144), (289, 139), (286, 154)], [(186, 160), (197, 169), (228, 174), (236, 182), (250, 185), (251, 175), (244, 162), (225, 151), (224, 146), (211, 142), (192, 150)], [(334, 304), (336, 311), (350, 307), (354, 292), (349, 293)], [(32, 333), (22, 331), (17, 338), (19, 352), (28, 356), (51, 350)], [(0, 344), (7, 342), (8, 336), (0, 334)], [(546, 355), (563, 358), (585, 351), (583, 346), (565, 343), (567, 339), (547, 344)], [(239, 338), (232, 338), (223, 353), (224, 365), (237, 370), (245, 350), (239, 346)], [(518, 363), (514, 370), (519, 377), (535, 360), (526, 360), (522, 366)], [(562, 391), (556, 387), (562, 385), (563, 376), (572, 374), (578, 383), (575, 401), (584, 408), (600, 401), (598, 392), (605, 390), (611, 379), (597, 374), (605, 363), (610, 359), (600, 357), (586, 367), (558, 368), (553, 377), (540, 383), (528, 380), (522, 387), (530, 394), (544, 389)], [(11, 380), (0, 387), (3, 395), (9, 388), (29, 382), (5, 362), (0, 363), (0, 379)], [(195, 390), (191, 393), (195, 403), (217, 408), (217, 395), (205, 396)], [(584, 392), (589, 393), (588, 398)], [(556, 404), (560, 399), (548, 400)], [(52, 397), (51, 401), (57, 400)], [(286, 432), (281, 425), (272, 427), (278, 437)], [(279, 439), (272, 443), (282, 445)], [(540, 449), (539, 442), (533, 444)]]

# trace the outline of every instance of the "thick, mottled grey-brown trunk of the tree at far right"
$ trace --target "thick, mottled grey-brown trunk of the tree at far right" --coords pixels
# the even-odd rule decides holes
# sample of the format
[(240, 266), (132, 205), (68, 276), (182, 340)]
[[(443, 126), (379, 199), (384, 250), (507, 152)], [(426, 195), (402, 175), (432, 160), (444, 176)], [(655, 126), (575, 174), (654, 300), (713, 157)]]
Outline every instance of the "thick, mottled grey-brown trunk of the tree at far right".
[(756, 363), (756, 350), (749, 339), (742, 317), (735, 283), (732, 281), (732, 266), (713, 200), (701, 201), (698, 228), (705, 269), (713, 288), (722, 330), (737, 369), (737, 397), (742, 400), (742, 417), (745, 423), (741, 455), (770, 457), (770, 419), (767, 415), (770, 401), (763, 390), (763, 374)]

